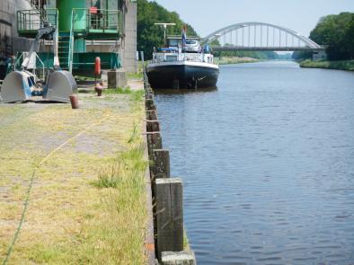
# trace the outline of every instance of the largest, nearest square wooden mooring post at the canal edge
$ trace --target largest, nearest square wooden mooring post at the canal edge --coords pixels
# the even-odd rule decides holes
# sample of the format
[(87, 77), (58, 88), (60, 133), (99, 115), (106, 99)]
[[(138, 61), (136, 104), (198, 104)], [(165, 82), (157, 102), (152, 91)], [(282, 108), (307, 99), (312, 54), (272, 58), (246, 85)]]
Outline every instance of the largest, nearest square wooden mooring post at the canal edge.
[(157, 255), (183, 251), (183, 185), (181, 179), (155, 181)]

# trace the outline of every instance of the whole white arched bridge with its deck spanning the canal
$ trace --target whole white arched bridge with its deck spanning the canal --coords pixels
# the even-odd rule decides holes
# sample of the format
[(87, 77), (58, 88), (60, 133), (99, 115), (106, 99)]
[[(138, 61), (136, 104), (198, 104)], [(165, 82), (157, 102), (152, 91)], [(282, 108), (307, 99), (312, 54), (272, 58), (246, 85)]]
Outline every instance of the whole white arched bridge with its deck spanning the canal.
[[(218, 40), (220, 46), (213, 45), (215, 40)], [(211, 44), (214, 50), (226, 51), (323, 51), (325, 49), (296, 31), (264, 22), (243, 22), (227, 26), (209, 34), (202, 41)]]

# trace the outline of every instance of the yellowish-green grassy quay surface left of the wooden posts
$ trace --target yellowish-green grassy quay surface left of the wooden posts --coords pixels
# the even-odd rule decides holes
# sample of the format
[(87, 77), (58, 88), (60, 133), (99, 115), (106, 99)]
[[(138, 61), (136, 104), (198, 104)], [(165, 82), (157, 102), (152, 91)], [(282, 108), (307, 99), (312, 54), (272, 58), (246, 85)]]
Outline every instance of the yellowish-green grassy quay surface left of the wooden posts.
[[(69, 104), (0, 103), (0, 261), (142, 264), (142, 92)], [(31, 189), (29, 190), (29, 187)]]

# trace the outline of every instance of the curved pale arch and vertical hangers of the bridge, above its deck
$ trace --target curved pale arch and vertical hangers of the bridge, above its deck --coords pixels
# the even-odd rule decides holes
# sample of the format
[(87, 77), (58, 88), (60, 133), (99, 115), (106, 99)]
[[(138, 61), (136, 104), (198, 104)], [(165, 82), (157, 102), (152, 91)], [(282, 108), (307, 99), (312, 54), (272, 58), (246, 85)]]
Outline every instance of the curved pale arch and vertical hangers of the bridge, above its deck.
[[(248, 34), (250, 35), (251, 34), (250, 33), (251, 28), (253, 29), (252, 30), (252, 39), (254, 39), (254, 45), (250, 45), (251, 37), (248, 36), (248, 40), (249, 40), (248, 41), (248, 47), (249, 48), (251, 48), (250, 46), (256, 46), (255, 45), (255, 42), (256, 42), (255, 40), (256, 40), (256, 38), (258, 38), (258, 39), (260, 38), (260, 36), (256, 36), (257, 28), (261, 28), (261, 32), (262, 32), (263, 28), (266, 28), (267, 47), (269, 47), (270, 31), (272, 30), (273, 44), (274, 44), (274, 40), (275, 40), (275, 38), (274, 38), (274, 34), (275, 34), (274, 32), (275, 31), (278, 31), (278, 34), (279, 34), (280, 38), (281, 38), (282, 34), (285, 35), (286, 38), (287, 38), (287, 43), (286, 43), (285, 46), (284, 45), (282, 46), (281, 45), (281, 40), (279, 40), (279, 45), (277, 45), (277, 47), (282, 47), (283, 49), (286, 49), (286, 48), (293, 48), (293, 49), (302, 48), (302, 49), (314, 49), (314, 50), (315, 49), (323, 49), (323, 47), (321, 45), (318, 45), (313, 40), (310, 40), (310, 39), (300, 35), (296, 31), (292, 31), (292, 30), (290, 30), (288, 28), (281, 27), (281, 26), (278, 26), (278, 25), (275, 25), (275, 24), (266, 23), (266, 22), (242, 22), (242, 23), (236, 23), (236, 24), (227, 26), (225, 28), (222, 28), (222, 29), (220, 29), (218, 31), (212, 32), (211, 34), (209, 34), (207, 37), (205, 37), (203, 39), (203, 42), (204, 43), (211, 43), (213, 40), (218, 40), (221, 37), (225, 37), (227, 34), (232, 34), (234, 31), (239, 31), (239, 30), (242, 30), (244, 32), (244, 31), (247, 31), (247, 29), (248, 29)], [(293, 42), (292, 46), (288, 46), (288, 36), (291, 36), (291, 38), (292, 38), (292, 42)], [(261, 34), (261, 38), (262, 38), (262, 34)], [(296, 45), (294, 45), (294, 40), (297, 41)], [(244, 42), (244, 40), (243, 40), (243, 42)], [(261, 42), (262, 42), (262, 39), (261, 39)], [(237, 45), (235, 45), (235, 46), (237, 46)], [(265, 46), (265, 45), (258, 45), (258, 48), (261, 48), (262, 46)], [(239, 45), (238, 47), (242, 48), (243, 45)], [(253, 47), (253, 48), (256, 48), (256, 47)], [(263, 47), (263, 48), (265, 48), (265, 47)]]

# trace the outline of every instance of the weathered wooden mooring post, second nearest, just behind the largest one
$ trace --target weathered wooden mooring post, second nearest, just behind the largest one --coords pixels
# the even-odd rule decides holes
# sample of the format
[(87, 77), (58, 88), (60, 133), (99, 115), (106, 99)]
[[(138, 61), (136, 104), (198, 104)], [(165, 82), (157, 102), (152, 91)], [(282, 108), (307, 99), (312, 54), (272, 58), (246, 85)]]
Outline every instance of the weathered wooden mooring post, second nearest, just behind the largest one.
[(153, 149), (153, 163), (150, 171), (154, 179), (170, 178), (170, 151)]

